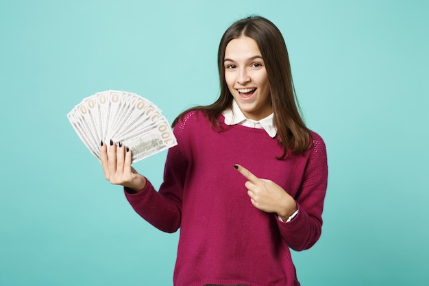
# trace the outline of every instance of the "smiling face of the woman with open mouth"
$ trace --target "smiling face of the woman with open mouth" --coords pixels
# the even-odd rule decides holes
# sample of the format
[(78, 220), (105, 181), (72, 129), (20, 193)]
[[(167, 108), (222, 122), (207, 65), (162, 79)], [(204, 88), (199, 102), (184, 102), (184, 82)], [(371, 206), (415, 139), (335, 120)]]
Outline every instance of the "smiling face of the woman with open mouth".
[(273, 112), (265, 63), (255, 40), (234, 38), (225, 49), (225, 81), (248, 119), (260, 120)]

